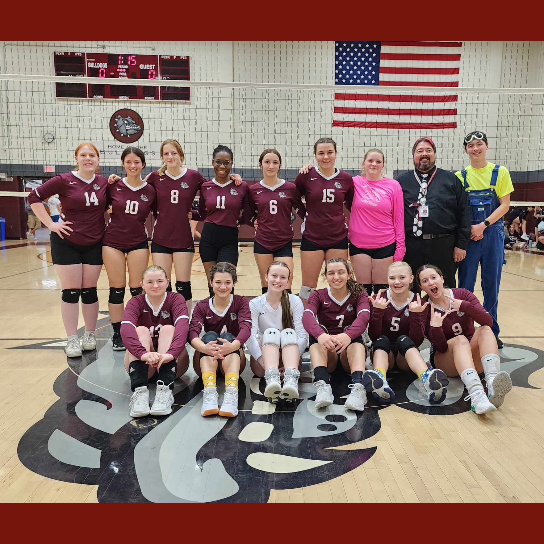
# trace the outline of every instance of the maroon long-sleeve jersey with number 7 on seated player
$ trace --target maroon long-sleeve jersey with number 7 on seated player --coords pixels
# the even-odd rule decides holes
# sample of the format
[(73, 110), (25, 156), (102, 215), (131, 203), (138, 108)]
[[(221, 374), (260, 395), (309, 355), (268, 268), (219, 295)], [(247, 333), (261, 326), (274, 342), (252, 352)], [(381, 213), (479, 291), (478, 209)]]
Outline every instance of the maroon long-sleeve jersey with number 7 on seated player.
[(316, 319), (330, 335), (345, 332), (352, 340), (357, 338), (366, 330), (370, 319), (367, 292), (354, 296), (348, 291), (344, 300), (336, 300), (331, 295), (330, 287), (316, 289), (302, 314), (302, 325), (314, 338), (323, 333)]

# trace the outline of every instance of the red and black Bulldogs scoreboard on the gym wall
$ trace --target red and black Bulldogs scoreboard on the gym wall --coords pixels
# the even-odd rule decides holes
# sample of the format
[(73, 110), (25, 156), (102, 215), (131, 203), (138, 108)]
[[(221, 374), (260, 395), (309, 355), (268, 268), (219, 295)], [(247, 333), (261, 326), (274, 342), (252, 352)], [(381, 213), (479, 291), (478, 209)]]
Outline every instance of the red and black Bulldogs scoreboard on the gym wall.
[[(131, 85), (131, 79), (189, 81), (189, 57), (124, 53), (53, 52), (55, 76), (98, 77), (104, 83), (56, 83), (57, 98), (190, 100), (189, 87)], [(122, 85), (108, 84), (121, 79)]]

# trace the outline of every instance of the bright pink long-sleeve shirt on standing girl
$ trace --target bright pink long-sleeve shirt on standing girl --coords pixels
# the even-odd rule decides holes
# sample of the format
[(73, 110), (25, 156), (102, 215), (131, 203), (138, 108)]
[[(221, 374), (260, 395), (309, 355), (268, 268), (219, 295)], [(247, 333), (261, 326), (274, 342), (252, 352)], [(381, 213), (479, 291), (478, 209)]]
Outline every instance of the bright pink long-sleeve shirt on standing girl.
[(404, 244), (403, 190), (397, 180), (368, 181), (355, 176), (348, 237), (357, 248), (383, 248), (397, 242), (395, 261), (402, 261)]

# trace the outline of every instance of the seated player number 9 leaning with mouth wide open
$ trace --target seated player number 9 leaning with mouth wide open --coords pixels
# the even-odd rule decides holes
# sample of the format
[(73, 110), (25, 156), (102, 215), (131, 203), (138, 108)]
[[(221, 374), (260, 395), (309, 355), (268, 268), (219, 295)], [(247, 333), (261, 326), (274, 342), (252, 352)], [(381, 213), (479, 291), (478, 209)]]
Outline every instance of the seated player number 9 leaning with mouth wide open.
[[(512, 380), (507, 372), (500, 370), (490, 314), (470, 291), (445, 288), (442, 271), (434, 265), (424, 264), (417, 277), (431, 302), (425, 336), (434, 348), (432, 366), (448, 376), (460, 376), (468, 391), (465, 400), (471, 399), (471, 410), (476, 413), (496, 410), (511, 390)], [(476, 330), (474, 321), (480, 325)], [(478, 376), (482, 372), (489, 400)]]

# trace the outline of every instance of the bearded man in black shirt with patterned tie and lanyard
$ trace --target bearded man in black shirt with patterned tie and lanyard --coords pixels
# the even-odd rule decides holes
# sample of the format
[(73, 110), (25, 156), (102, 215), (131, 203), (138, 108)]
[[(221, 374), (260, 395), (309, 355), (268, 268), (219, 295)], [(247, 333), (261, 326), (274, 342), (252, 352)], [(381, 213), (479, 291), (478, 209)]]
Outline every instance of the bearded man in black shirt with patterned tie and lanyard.
[(398, 177), (404, 194), (406, 255), (419, 288), (417, 269), (435, 264), (447, 287), (455, 287), (457, 263), (471, 236), (467, 193), (453, 172), (436, 168), (436, 146), (429, 137), (412, 147), (415, 169)]

